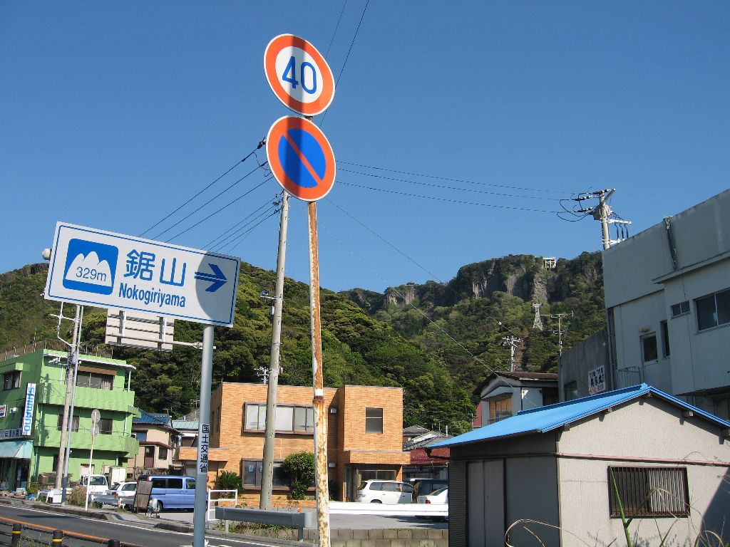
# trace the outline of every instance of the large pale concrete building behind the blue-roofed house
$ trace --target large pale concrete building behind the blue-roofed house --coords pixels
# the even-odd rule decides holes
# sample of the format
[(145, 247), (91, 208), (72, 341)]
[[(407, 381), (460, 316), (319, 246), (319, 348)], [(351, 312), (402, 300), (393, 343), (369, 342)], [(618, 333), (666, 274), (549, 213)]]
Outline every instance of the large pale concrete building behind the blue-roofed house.
[(730, 416), (730, 190), (604, 251), (616, 387)]

